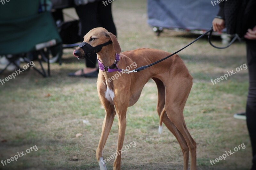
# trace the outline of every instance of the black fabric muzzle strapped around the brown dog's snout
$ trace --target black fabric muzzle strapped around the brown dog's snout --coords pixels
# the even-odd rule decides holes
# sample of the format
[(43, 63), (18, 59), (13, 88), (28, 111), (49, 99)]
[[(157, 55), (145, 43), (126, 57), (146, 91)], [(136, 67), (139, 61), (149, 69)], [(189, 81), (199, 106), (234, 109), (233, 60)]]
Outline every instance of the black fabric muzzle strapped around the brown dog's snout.
[[(87, 42), (82, 42), (78, 47), (83, 49), (85, 57), (90, 57), (90, 56), (100, 52), (102, 47), (107, 46), (109, 44), (112, 44), (112, 41), (108, 41), (108, 42), (105, 42), (105, 43), (100, 44), (98, 46), (92, 47)], [(76, 56), (76, 55), (74, 54), (74, 56)]]

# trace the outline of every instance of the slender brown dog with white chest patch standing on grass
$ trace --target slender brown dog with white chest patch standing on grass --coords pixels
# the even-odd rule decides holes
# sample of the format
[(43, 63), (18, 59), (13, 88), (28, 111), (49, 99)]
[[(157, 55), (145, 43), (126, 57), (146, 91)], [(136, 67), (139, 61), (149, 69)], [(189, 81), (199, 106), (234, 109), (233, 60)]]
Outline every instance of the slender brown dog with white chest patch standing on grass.
[[(88, 47), (90, 45), (90, 47), (98, 47), (108, 41), (112, 41), (112, 44), (105, 44), (103, 47), (96, 50), (96, 52), (99, 61), (103, 63), (104, 66), (111, 66), (112, 68), (109, 67), (111, 69), (115, 69), (115, 67), (124, 69), (133, 62), (136, 62), (140, 67), (170, 55), (168, 52), (148, 48), (120, 53), (121, 48), (116, 36), (109, 33), (105, 28), (92, 29), (84, 36), (83, 43)], [(78, 47), (74, 51), (74, 55), (79, 59), (83, 59), (85, 56), (88, 56), (87, 52), (82, 48)], [(116, 54), (120, 54), (120, 60), (118, 62), (116, 62)], [(158, 89), (156, 110), (160, 116), (159, 132), (161, 133), (163, 121), (180, 144), (184, 157), (183, 169), (188, 169), (190, 151), (190, 169), (195, 170), (196, 142), (189, 134), (183, 116), (183, 109), (192, 87), (193, 78), (189, 74), (188, 69), (181, 58), (178, 55), (173, 55), (147, 70), (123, 74), (120, 75), (118, 79), (113, 78), (118, 71), (108, 72), (107, 70), (108, 67), (104, 67), (104, 70), (99, 72), (97, 81), (98, 95), (106, 111), (100, 142), (96, 150), (96, 158), (99, 162), (100, 169), (107, 169), (102, 158), (102, 151), (107, 141), (115, 115), (117, 114), (118, 118), (118, 142), (116, 150), (119, 151), (122, 149), (124, 142), (127, 108), (138, 101), (144, 85), (150, 78), (152, 78), (156, 82)], [(108, 81), (110, 79), (111, 81)], [(106, 85), (102, 82), (106, 82)], [(113, 169), (120, 168), (121, 154), (118, 154), (114, 161)]]

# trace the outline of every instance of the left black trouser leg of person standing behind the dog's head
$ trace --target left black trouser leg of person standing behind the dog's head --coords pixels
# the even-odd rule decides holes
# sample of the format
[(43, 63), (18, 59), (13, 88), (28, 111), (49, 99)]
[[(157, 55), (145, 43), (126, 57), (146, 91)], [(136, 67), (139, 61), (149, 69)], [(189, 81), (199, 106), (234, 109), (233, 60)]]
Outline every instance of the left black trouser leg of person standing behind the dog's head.
[[(81, 41), (84, 41), (84, 35), (91, 29), (99, 26), (97, 19), (98, 2), (88, 3), (86, 5), (76, 6), (76, 13), (81, 22)], [(90, 58), (85, 58), (86, 67), (95, 68), (97, 61), (97, 54), (92, 55)]]

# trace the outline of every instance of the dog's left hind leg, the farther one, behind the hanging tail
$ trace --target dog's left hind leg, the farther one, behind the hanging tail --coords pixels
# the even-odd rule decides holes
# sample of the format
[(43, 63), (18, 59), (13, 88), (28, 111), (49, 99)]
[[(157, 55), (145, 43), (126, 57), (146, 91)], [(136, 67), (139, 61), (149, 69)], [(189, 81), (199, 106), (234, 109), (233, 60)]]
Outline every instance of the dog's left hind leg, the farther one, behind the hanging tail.
[[(189, 149), (188, 149), (187, 142), (186, 142), (185, 138), (182, 136), (182, 134), (180, 133), (180, 131), (176, 128), (176, 126), (170, 121), (170, 119), (166, 115), (165, 108), (164, 108), (165, 87), (164, 87), (163, 82), (156, 78), (153, 78), (153, 79), (156, 82), (157, 90), (158, 90), (158, 100), (157, 100), (157, 107), (156, 107), (157, 113), (158, 113), (159, 117), (161, 117), (161, 114), (162, 114), (162, 116), (163, 116), (162, 120), (163, 120), (165, 126), (167, 127), (167, 129), (169, 129), (172, 132), (172, 134), (178, 140), (181, 150), (182, 150), (182, 153), (183, 153), (183, 158), (184, 158), (183, 169), (187, 170), (188, 169), (188, 159), (189, 159)], [(159, 129), (160, 129), (160, 127), (159, 127)]]

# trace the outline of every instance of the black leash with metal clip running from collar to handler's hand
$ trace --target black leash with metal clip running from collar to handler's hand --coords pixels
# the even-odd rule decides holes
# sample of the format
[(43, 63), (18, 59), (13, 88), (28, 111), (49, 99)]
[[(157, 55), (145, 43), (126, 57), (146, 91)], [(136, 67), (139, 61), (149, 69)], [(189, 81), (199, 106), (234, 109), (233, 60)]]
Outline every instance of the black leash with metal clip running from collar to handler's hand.
[(149, 64), (149, 65), (145, 65), (145, 66), (139, 67), (139, 68), (137, 68), (137, 69), (135, 69), (135, 70), (132, 70), (132, 71), (125, 70), (124, 73), (128, 73), (128, 74), (129, 74), (129, 73), (131, 73), (131, 72), (139, 72), (139, 71), (141, 71), (141, 70), (147, 69), (148, 67), (151, 67), (152, 65), (155, 65), (155, 64), (157, 64), (157, 63), (160, 63), (161, 61), (164, 61), (164, 60), (166, 60), (167, 58), (171, 57), (172, 55), (175, 55), (175, 54), (177, 54), (178, 52), (180, 52), (181, 50), (187, 48), (188, 46), (190, 46), (191, 44), (193, 44), (194, 42), (196, 42), (197, 40), (199, 40), (200, 38), (202, 38), (202, 37), (203, 37), (204, 35), (206, 35), (207, 33), (209, 33), (208, 41), (209, 41), (209, 43), (211, 44), (211, 46), (214, 47), (214, 48), (218, 48), (218, 49), (228, 48), (231, 44), (233, 44), (233, 42), (236, 41), (236, 39), (238, 39), (239, 41), (241, 40), (240, 37), (236, 34), (235, 37), (232, 39), (232, 41), (230, 41), (230, 43), (229, 43), (227, 46), (225, 46), (225, 47), (216, 47), (216, 46), (213, 45), (212, 42), (211, 42), (212, 32), (213, 32), (213, 28), (211, 28), (210, 30), (206, 31), (205, 33), (203, 33), (202, 35), (200, 35), (198, 38), (196, 38), (196, 40), (190, 42), (188, 45), (186, 45), (185, 47), (183, 47), (183, 48), (181, 48), (180, 50), (176, 51), (175, 53), (172, 53), (171, 55), (168, 55), (168, 56), (162, 58), (161, 60), (158, 60), (158, 61), (156, 61), (156, 62), (154, 62), (154, 63)]

